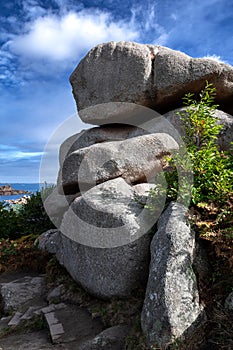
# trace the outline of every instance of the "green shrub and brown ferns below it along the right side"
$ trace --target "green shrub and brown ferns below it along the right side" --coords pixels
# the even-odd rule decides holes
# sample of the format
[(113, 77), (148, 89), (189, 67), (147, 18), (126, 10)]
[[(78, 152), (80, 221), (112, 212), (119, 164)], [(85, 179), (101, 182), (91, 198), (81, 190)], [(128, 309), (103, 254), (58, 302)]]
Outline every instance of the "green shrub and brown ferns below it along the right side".
[[(218, 146), (223, 125), (215, 117), (214, 98), (215, 88), (208, 82), (200, 100), (195, 100), (193, 94), (184, 97), (186, 108), (179, 117), (185, 147), (166, 159), (167, 189), (157, 186), (149, 193), (148, 208), (152, 212), (159, 204), (159, 192), (165, 190), (167, 202), (177, 200), (189, 206), (187, 215), (197, 241), (205, 247), (209, 264), (208, 277), (198, 276), (208, 319), (196, 332), (199, 334), (185, 344), (173, 344), (172, 349), (201, 349), (205, 342), (216, 349), (230, 349), (233, 344), (232, 315), (224, 309), (224, 301), (233, 288), (233, 152)], [(187, 176), (191, 171), (193, 181), (189, 188), (191, 181)]]

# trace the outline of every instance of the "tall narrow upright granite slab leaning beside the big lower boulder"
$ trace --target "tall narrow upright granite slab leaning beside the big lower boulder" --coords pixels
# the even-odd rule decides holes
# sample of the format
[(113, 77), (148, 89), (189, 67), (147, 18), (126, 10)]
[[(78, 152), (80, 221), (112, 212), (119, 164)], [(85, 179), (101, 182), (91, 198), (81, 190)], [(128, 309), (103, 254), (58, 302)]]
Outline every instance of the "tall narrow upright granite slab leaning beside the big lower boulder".
[(141, 325), (151, 345), (162, 349), (183, 337), (203, 316), (192, 263), (195, 237), (187, 208), (171, 203), (151, 243), (151, 263)]

